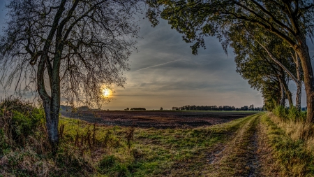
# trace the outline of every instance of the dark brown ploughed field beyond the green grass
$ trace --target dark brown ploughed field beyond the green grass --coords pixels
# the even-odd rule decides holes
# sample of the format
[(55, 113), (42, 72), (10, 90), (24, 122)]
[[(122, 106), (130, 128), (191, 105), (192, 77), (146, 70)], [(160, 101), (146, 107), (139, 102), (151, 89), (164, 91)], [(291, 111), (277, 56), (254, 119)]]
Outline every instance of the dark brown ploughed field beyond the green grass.
[(253, 111), (61, 111), (61, 115), (103, 125), (141, 128), (201, 127), (216, 125), (257, 112)]

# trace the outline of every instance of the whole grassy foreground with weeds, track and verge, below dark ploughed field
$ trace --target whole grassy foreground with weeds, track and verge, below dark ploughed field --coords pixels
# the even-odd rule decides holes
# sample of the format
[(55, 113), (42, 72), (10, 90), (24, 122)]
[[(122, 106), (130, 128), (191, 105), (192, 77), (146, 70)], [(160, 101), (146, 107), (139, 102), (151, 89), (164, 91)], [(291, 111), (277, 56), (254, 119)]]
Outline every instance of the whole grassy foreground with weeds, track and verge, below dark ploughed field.
[(142, 129), (60, 118), (52, 155), (43, 111), (11, 102), (0, 104), (0, 176), (249, 176), (259, 172), (260, 139), (278, 174), (314, 176), (312, 140), (299, 139), (296, 120), (260, 113), (207, 127)]

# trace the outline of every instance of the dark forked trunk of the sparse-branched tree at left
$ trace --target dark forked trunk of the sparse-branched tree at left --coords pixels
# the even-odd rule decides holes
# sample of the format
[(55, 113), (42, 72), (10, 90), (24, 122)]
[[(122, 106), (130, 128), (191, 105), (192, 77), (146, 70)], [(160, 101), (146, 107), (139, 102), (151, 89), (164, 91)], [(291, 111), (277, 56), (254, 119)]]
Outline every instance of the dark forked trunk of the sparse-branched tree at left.
[[(59, 24), (59, 20), (64, 10), (66, 0), (60, 2), (59, 9), (57, 14), (54, 17), (54, 22), (50, 30), (47, 40), (43, 47), (43, 55), (40, 57), (38, 63), (38, 72), (37, 72), (37, 87), (40, 98), (43, 100), (43, 107), (45, 111), (46, 118), (46, 127), (48, 134), (48, 141), (50, 143), (52, 154), (57, 153), (59, 146), (59, 134), (58, 134), (58, 124), (59, 124), (59, 109), (60, 109), (60, 78), (59, 78), (59, 69), (60, 69), (60, 60), (55, 61), (56, 56), (54, 56), (53, 68), (50, 68), (50, 60), (48, 57), (48, 51), (51, 47), (52, 38), (54, 38), (55, 32)], [(57, 50), (57, 57), (61, 56), (62, 50)], [(58, 58), (60, 59), (60, 58)], [(49, 64), (48, 64), (49, 63)], [(45, 66), (47, 64), (48, 75), (50, 78), (50, 87), (51, 87), (51, 97), (47, 94), (45, 89)]]

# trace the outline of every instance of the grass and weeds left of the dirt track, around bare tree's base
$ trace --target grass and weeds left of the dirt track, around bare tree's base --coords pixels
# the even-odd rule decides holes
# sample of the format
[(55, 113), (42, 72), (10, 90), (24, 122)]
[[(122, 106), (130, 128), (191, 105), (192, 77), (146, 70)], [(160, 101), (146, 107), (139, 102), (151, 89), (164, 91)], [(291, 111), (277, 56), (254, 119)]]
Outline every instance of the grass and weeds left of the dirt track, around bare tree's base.
[(20, 127), (27, 136), (11, 143), (0, 127), (0, 141), (6, 143), (0, 152), (0, 176), (191, 176), (207, 166), (208, 151), (229, 141), (251, 118), (194, 129), (100, 126), (60, 118), (59, 150), (52, 156), (43, 113), (39, 111), (38, 121), (29, 124), (31, 117), (17, 111), (9, 112), (16, 120), (27, 121), (24, 127), (36, 127)]

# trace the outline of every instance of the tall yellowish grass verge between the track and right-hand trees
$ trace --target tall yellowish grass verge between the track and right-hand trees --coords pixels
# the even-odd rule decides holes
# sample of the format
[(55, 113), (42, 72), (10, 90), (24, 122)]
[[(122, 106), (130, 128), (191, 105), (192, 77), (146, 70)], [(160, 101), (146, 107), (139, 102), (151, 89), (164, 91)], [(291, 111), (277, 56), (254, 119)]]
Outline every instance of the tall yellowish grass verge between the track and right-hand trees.
[(291, 123), (281, 122), (271, 114), (263, 115), (262, 123), (267, 127), (267, 136), (276, 162), (281, 167), (281, 176), (314, 176), (313, 152), (308, 150), (305, 141), (292, 139), (295, 136), (290, 131)]

